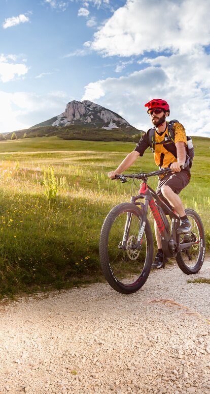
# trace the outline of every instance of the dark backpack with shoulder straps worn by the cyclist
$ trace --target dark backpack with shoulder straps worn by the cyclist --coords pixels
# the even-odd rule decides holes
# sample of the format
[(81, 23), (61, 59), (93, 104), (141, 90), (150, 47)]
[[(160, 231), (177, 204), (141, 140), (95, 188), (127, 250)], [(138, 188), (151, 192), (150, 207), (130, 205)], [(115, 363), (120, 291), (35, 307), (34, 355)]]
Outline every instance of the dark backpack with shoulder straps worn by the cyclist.
[[(151, 151), (153, 153), (155, 153), (155, 145), (156, 144), (164, 144), (166, 141), (171, 140), (171, 142), (175, 145), (174, 142), (174, 131), (173, 131), (173, 125), (174, 123), (179, 123), (178, 120), (173, 119), (168, 123), (168, 135), (165, 136), (165, 138), (163, 139), (163, 141), (161, 143), (156, 143), (155, 142), (155, 127), (153, 127), (152, 129), (150, 129), (148, 131), (148, 136), (149, 136), (149, 146), (151, 148)], [(192, 143), (192, 138), (187, 136), (187, 147), (186, 147), (186, 154), (187, 154), (187, 161), (185, 163), (185, 167), (187, 165), (189, 165), (189, 167), (192, 167), (192, 161), (193, 161), (193, 157), (195, 156), (194, 153), (194, 148), (193, 148), (193, 143)]]

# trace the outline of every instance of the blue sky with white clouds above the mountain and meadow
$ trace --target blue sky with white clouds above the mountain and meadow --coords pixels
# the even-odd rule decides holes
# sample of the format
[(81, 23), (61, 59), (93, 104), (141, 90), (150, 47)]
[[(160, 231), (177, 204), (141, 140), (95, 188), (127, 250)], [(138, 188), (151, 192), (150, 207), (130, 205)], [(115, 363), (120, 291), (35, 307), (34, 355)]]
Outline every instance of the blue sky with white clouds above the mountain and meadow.
[(210, 137), (209, 0), (1, 0), (0, 133), (90, 100), (147, 131), (167, 100)]

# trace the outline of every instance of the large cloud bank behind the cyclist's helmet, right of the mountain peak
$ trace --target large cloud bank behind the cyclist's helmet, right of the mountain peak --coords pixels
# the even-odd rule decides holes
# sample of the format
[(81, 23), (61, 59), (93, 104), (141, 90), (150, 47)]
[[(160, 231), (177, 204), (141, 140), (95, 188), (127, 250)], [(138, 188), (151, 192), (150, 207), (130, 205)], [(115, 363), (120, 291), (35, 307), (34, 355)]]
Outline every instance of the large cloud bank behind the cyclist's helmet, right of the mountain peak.
[(166, 99), (170, 119), (184, 124), (189, 135), (210, 137), (210, 55), (193, 54), (145, 59), (149, 67), (129, 76), (89, 83), (82, 100), (97, 101), (133, 126), (147, 130), (150, 119), (144, 104), (152, 98)]

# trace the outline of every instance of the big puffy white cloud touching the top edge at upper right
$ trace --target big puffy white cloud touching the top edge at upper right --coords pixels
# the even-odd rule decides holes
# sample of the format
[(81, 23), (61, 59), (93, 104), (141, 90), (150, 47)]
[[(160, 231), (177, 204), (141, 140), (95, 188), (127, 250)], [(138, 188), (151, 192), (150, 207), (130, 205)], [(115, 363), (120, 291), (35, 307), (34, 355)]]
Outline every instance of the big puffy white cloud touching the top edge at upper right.
[(129, 57), (145, 51), (186, 53), (210, 43), (208, 0), (127, 0), (94, 35), (92, 49)]

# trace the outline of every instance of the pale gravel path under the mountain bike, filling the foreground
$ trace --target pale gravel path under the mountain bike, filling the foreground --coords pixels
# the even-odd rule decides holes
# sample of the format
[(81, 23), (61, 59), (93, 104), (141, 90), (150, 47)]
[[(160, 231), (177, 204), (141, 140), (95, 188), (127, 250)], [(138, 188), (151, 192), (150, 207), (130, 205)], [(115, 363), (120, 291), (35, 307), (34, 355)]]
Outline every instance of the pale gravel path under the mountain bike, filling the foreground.
[(128, 296), (95, 284), (1, 302), (0, 393), (209, 394), (210, 286), (195, 277), (210, 277), (209, 259)]

